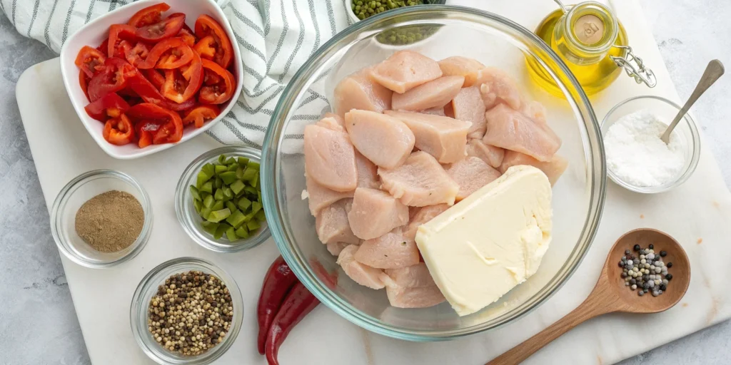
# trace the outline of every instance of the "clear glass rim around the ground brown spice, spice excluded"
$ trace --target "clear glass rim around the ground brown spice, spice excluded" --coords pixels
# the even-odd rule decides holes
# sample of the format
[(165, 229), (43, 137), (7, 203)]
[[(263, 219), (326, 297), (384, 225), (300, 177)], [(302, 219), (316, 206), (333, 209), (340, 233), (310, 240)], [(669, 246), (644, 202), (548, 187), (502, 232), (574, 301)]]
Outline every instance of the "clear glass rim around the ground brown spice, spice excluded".
[[(66, 207), (66, 204), (68, 203), (71, 196), (73, 196), (73, 194), (78, 191), (78, 188), (81, 185), (88, 183), (89, 181), (96, 180), (96, 178), (98, 177), (121, 180), (124, 183), (132, 186), (132, 188), (135, 188), (137, 193), (139, 193), (139, 196), (142, 197), (140, 205), (142, 206), (143, 212), (145, 213), (145, 221), (143, 223), (142, 230), (140, 230), (140, 235), (137, 236), (137, 239), (135, 239), (135, 242), (132, 242), (131, 245), (134, 248), (132, 248), (132, 250), (129, 250), (126, 255), (123, 255), (111, 261), (89, 261), (87, 258), (77, 255), (75, 253), (75, 250), (69, 248), (72, 246), (72, 244), (64, 240), (61, 235), (61, 230), (63, 229), (61, 228), (61, 210)], [(74, 177), (72, 180), (69, 181), (69, 183), (64, 185), (64, 188), (61, 188), (61, 191), (58, 192), (56, 199), (53, 201), (53, 207), (51, 207), (50, 231), (51, 236), (53, 236), (53, 240), (56, 242), (56, 247), (58, 247), (58, 250), (61, 251), (61, 253), (63, 253), (64, 256), (66, 256), (69, 260), (73, 261), (75, 264), (79, 264), (90, 269), (106, 269), (111, 266), (115, 266), (123, 262), (132, 260), (132, 258), (135, 258), (135, 256), (137, 256), (137, 254), (139, 254), (143, 250), (145, 245), (147, 245), (148, 240), (150, 239), (150, 234), (152, 231), (152, 220), (153, 212), (150, 196), (148, 196), (147, 191), (145, 191), (145, 188), (143, 188), (142, 184), (140, 184), (137, 179), (130, 176), (129, 174), (125, 174), (124, 172), (113, 169), (96, 169), (84, 172), (83, 174)]]

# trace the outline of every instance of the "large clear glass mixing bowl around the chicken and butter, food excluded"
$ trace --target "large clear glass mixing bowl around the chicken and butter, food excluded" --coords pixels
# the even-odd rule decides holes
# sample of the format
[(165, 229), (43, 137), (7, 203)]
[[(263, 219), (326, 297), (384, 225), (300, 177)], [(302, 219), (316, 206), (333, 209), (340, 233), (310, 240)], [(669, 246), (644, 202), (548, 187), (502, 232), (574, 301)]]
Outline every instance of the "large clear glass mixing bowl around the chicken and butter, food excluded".
[[(406, 25), (440, 28), (414, 45), (376, 42), (380, 32)], [(314, 218), (302, 199), (304, 126), (328, 111), (324, 100), (332, 100), (335, 85), (345, 75), (376, 64), (399, 49), (417, 50), (436, 60), (463, 55), (509, 72), (527, 96), (547, 107), (548, 123), (563, 139), (558, 153), (569, 160), (567, 172), (553, 188), (553, 243), (539, 271), (473, 315), (459, 317), (446, 302), (423, 309), (391, 307), (385, 291), (357, 285), (341, 272), (336, 258), (317, 239)], [(530, 83), (526, 57), (545, 67), (566, 99), (553, 98)], [(317, 99), (323, 100), (322, 105)], [(358, 326), (412, 341), (453, 339), (496, 328), (548, 299), (574, 272), (591, 245), (606, 183), (599, 123), (578, 82), (550, 47), (528, 29), (499, 15), (446, 5), (385, 12), (358, 22), (320, 47), (279, 99), (262, 158), (262, 196), (270, 230), (300, 280), (327, 307)], [(485, 280), (488, 283), (488, 278)]]

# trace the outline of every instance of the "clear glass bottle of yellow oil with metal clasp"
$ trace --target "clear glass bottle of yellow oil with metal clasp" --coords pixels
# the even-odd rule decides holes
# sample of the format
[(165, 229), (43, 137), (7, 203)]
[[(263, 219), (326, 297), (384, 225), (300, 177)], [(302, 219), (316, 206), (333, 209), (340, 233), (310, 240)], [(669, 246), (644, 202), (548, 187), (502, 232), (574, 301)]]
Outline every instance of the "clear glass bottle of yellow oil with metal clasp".
[[(638, 83), (656, 84), (652, 71), (632, 54), (624, 27), (604, 4), (586, 1), (556, 9), (542, 20), (535, 34), (567, 64), (588, 95), (611, 85), (622, 69)], [(553, 95), (564, 96), (544, 66), (534, 58), (527, 63), (534, 82)]]

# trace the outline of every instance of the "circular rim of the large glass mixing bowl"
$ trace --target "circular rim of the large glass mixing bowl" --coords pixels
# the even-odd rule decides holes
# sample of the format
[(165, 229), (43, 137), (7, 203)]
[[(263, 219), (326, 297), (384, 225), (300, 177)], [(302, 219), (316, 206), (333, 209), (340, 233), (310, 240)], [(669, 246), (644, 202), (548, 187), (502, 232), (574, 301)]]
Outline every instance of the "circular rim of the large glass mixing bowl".
[[(357, 310), (355, 307), (352, 307), (350, 304), (346, 303), (343, 299), (340, 298), (340, 296), (330, 290), (330, 288), (327, 288), (327, 285), (322, 283), (322, 280), (320, 280), (319, 277), (317, 277), (317, 275), (314, 274), (311, 269), (308, 269), (306, 267), (306, 258), (298, 257), (299, 253), (295, 253), (295, 249), (289, 247), (290, 244), (287, 240), (287, 230), (284, 228), (284, 225), (282, 223), (283, 220), (281, 219), (282, 217), (279, 214), (279, 198), (277, 198), (279, 193), (276, 191), (276, 174), (278, 173), (276, 171), (276, 165), (278, 162), (277, 154), (279, 151), (276, 150), (276, 147), (278, 146), (280, 140), (275, 138), (278, 137), (279, 134), (281, 134), (280, 129), (283, 127), (284, 122), (280, 122), (280, 120), (283, 118), (283, 115), (288, 112), (287, 110), (283, 110), (284, 108), (286, 108), (285, 104), (292, 102), (288, 99), (293, 99), (298, 96), (298, 94), (293, 94), (292, 91), (295, 88), (299, 88), (299, 92), (303, 88), (303, 86), (306, 85), (306, 82), (308, 82), (308, 80), (300, 80), (302, 79), (303, 74), (309, 72), (310, 69), (312, 69), (318, 61), (322, 61), (319, 60), (322, 55), (324, 55), (331, 49), (336, 48), (339, 42), (341, 42), (346, 37), (349, 37), (351, 34), (360, 32), (363, 30), (363, 28), (368, 28), (368, 26), (371, 26), (371, 24), (373, 23), (381, 21), (385, 23), (388, 20), (393, 20), (393, 18), (398, 18), (401, 15), (409, 14), (412, 12), (421, 13), (425, 15), (426, 18), (428, 18), (431, 12), (447, 12), (451, 15), (456, 15), (457, 17), (460, 15), (470, 15), (490, 20), (492, 23), (499, 23), (512, 28), (515, 33), (520, 34), (520, 36), (524, 39), (532, 41), (529, 42), (531, 46), (537, 47), (539, 48), (539, 50), (542, 50), (542, 52), (550, 58), (550, 61), (554, 62), (556, 67), (558, 67), (559, 71), (561, 72), (561, 77), (565, 77), (565, 80), (568, 80), (568, 82), (562, 82), (562, 85), (573, 88), (572, 92), (575, 93), (575, 95), (572, 97), (576, 101), (575, 106), (583, 108), (583, 110), (585, 110), (583, 114), (586, 114), (587, 117), (585, 118), (585, 120), (583, 120), (583, 126), (586, 129), (587, 138), (590, 140), (588, 142), (589, 146), (585, 151), (587, 153), (586, 163), (588, 174), (592, 178), (591, 181), (588, 182), (588, 191), (590, 193), (589, 209), (587, 212), (586, 220), (583, 223), (583, 228), (579, 235), (577, 245), (575, 245), (572, 252), (569, 253), (567, 263), (561, 267), (559, 272), (554, 275), (553, 278), (551, 278), (546, 285), (544, 285), (539, 293), (531, 296), (531, 298), (521, 304), (521, 306), (518, 307), (518, 309), (514, 312), (507, 313), (506, 317), (501, 319), (500, 323), (491, 323), (485, 325), (485, 323), (483, 322), (474, 326), (443, 331), (412, 330), (409, 328), (390, 326), (382, 323), (378, 318), (371, 317), (370, 315), (367, 315), (366, 313), (363, 313), (360, 310)], [(426, 22), (428, 20), (429, 19), (418, 21)], [(402, 24), (389, 23), (389, 26), (397, 25)], [(357, 326), (366, 328), (368, 331), (372, 331), (376, 334), (382, 334), (387, 337), (417, 342), (444, 341), (467, 336), (470, 334), (476, 334), (489, 329), (499, 328), (501, 326), (504, 326), (505, 324), (511, 323), (512, 321), (523, 317), (523, 315), (532, 312), (534, 309), (539, 307), (540, 304), (550, 299), (550, 297), (553, 296), (553, 294), (555, 294), (558, 289), (560, 289), (565, 283), (567, 283), (577, 267), (581, 264), (581, 261), (583, 261), (583, 258), (586, 257), (586, 253), (591, 247), (591, 244), (594, 242), (594, 237), (596, 237), (596, 231), (599, 228), (599, 221), (602, 218), (602, 212), (604, 210), (605, 204), (607, 186), (606, 170), (607, 169), (604, 155), (604, 146), (602, 142), (602, 134), (601, 129), (599, 128), (599, 123), (596, 119), (596, 115), (594, 114), (594, 109), (593, 107), (591, 107), (591, 103), (589, 102), (586, 93), (584, 93), (583, 90), (580, 88), (578, 81), (569, 71), (566, 64), (564, 64), (564, 62), (561, 61), (560, 58), (558, 58), (558, 55), (556, 55), (556, 53), (553, 52), (553, 50), (551, 50), (550, 47), (545, 44), (545, 42), (539, 39), (539, 37), (537, 37), (527, 28), (520, 26), (518, 23), (515, 23), (512, 20), (504, 18), (501, 15), (496, 15), (493, 12), (486, 12), (480, 9), (460, 7), (455, 5), (420, 5), (418, 7), (403, 7), (399, 9), (393, 9), (388, 12), (383, 12), (379, 15), (369, 17), (365, 20), (360, 20), (354, 25), (346, 28), (344, 31), (336, 34), (335, 37), (331, 38), (324, 45), (319, 47), (319, 49), (315, 53), (313, 53), (310, 58), (308, 58), (308, 61), (306, 61), (306, 63), (300, 67), (298, 72), (295, 74), (294, 77), (292, 77), (292, 80), (290, 80), (289, 84), (284, 89), (277, 103), (277, 106), (270, 118), (270, 126), (267, 129), (267, 133), (265, 134), (264, 144), (262, 145), (262, 172), (264, 172), (264, 174), (262, 174), (262, 196), (265, 203), (264, 210), (267, 216), (271, 219), (269, 223), (272, 231), (272, 237), (276, 242), (276, 245), (279, 248), (281, 255), (284, 257), (284, 260), (287, 261), (289, 267), (292, 268), (292, 270), (298, 276), (300, 281), (302, 281), (302, 283), (306, 286), (306, 288), (308, 288), (311, 293), (317, 296), (320, 301), (325, 303), (327, 307), (336, 312), (338, 315), (341, 315), (341, 317), (345, 318), (346, 320), (349, 320), (350, 322), (355, 323)], [(567, 267), (569, 261), (573, 261), (573, 264), (572, 266), (569, 265)]]

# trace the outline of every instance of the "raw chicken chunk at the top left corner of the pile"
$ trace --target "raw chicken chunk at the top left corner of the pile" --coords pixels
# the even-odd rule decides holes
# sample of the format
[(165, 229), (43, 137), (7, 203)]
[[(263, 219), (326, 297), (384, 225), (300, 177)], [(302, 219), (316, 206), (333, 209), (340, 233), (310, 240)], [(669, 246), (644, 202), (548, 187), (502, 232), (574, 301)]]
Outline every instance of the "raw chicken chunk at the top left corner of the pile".
[(333, 106), (336, 114), (342, 116), (352, 109), (370, 110), (372, 112), (391, 109), (391, 94), (393, 94), (393, 91), (377, 82), (373, 82), (369, 76), (370, 73), (370, 68), (362, 69), (349, 74), (338, 82), (335, 87)]

